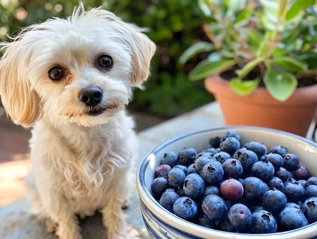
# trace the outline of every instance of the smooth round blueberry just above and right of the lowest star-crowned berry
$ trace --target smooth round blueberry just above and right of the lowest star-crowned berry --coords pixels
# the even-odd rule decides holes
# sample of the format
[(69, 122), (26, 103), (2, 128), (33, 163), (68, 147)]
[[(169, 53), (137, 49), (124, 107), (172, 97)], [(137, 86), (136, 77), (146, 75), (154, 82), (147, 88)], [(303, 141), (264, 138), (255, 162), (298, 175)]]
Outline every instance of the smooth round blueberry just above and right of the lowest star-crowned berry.
[(280, 212), (286, 206), (286, 196), (279, 190), (269, 190), (263, 195), (262, 203), (271, 213)]

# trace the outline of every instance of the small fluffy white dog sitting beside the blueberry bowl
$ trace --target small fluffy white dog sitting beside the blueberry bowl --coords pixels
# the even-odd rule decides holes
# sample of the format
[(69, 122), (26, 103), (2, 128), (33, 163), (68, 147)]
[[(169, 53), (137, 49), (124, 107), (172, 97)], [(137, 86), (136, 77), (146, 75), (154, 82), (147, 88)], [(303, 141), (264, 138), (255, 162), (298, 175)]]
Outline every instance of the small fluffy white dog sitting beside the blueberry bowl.
[[(75, 214), (100, 209), (108, 238), (128, 238), (122, 207), (137, 149), (124, 107), (147, 79), (155, 44), (100, 9), (23, 29), (0, 61), (0, 94), (16, 124), (33, 126), (34, 212), (61, 239), (81, 238)], [(54, 228), (51, 227), (53, 230)]]

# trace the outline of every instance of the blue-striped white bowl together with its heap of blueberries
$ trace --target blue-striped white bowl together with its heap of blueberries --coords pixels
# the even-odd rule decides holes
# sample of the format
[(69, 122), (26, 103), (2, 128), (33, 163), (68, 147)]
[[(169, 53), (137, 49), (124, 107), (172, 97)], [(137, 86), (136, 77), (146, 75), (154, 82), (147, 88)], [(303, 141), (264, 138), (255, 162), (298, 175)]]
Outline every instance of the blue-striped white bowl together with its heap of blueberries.
[(137, 173), (151, 238), (317, 238), (317, 144), (226, 127), (179, 136)]

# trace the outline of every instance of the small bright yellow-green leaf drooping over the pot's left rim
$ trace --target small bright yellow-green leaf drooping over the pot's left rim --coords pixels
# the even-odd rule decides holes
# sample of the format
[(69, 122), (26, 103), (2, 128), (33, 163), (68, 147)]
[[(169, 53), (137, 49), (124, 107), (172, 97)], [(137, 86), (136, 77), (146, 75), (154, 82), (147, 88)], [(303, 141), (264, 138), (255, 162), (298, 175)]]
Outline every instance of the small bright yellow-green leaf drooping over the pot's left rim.
[(232, 78), (230, 80), (231, 89), (239, 96), (247, 96), (251, 94), (260, 83), (260, 79), (243, 81), (240, 78)]

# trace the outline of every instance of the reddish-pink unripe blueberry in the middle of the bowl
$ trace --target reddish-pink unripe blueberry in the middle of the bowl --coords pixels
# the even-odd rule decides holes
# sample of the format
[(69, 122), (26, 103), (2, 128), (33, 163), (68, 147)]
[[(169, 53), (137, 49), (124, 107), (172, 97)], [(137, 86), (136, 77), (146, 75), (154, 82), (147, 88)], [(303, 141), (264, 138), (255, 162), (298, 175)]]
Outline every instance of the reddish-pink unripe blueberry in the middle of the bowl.
[(221, 184), (220, 193), (226, 199), (237, 201), (243, 195), (243, 186), (238, 180), (229, 178)]

